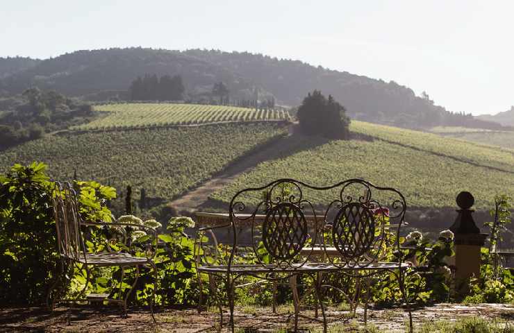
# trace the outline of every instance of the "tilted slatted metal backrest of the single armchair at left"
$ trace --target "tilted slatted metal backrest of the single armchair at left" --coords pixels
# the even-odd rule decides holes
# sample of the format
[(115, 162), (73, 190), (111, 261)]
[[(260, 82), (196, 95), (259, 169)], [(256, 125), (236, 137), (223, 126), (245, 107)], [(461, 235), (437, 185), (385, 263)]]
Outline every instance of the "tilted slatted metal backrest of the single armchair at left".
[(56, 219), (59, 253), (62, 257), (78, 260), (85, 248), (78, 214), (76, 193), (69, 182), (56, 182), (53, 196), (53, 214)]

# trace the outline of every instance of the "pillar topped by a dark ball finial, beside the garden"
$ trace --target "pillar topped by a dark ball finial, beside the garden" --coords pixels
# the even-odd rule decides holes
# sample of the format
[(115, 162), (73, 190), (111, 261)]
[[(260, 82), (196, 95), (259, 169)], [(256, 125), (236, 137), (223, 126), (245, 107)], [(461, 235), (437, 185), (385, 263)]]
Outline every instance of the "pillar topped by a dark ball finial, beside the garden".
[(449, 229), (454, 232), (456, 291), (465, 294), (469, 292), (470, 278), (480, 277), (480, 250), (488, 234), (481, 234), (474, 223), (474, 210), (470, 210), (474, 204), (472, 194), (463, 191), (458, 194), (456, 202), (460, 209), (457, 210), (457, 218)]

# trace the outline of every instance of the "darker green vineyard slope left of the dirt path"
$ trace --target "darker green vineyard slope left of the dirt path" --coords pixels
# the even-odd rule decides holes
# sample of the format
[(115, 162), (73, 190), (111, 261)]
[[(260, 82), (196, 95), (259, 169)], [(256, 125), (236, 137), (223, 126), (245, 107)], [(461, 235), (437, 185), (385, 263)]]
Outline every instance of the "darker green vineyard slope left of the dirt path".
[(281, 133), (273, 123), (226, 123), (48, 136), (0, 152), (0, 173), (39, 161), (55, 179), (69, 180), (76, 170), (81, 180), (171, 199)]

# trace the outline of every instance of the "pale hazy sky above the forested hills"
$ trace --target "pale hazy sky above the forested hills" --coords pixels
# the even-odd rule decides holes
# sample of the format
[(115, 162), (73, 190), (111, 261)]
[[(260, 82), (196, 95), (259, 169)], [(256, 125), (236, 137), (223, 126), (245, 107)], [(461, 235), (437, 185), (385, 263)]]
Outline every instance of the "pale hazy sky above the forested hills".
[(513, 22), (514, 1), (0, 0), (0, 56), (251, 51), (395, 80), (481, 114), (514, 105)]

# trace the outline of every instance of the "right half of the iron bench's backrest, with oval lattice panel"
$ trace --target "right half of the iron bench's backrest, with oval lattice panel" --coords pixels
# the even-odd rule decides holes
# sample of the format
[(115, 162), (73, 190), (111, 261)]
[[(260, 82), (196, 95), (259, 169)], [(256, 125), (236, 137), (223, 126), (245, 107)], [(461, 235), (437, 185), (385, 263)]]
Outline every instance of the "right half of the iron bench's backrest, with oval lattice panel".
[[(365, 180), (346, 180), (338, 186), (338, 198), (325, 211), (324, 246), (333, 246), (335, 266), (366, 268), (392, 258), (399, 251), (399, 232), (405, 222), (406, 200), (391, 187), (378, 187)], [(395, 228), (392, 230), (392, 228)], [(395, 232), (393, 232), (395, 231)], [(396, 237), (391, 237), (396, 234)], [(394, 248), (391, 248), (394, 246)]]

